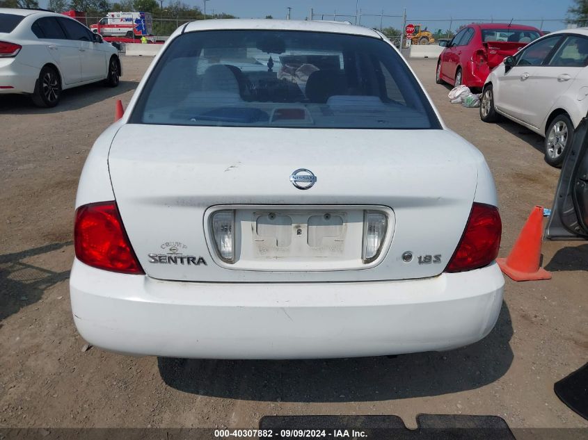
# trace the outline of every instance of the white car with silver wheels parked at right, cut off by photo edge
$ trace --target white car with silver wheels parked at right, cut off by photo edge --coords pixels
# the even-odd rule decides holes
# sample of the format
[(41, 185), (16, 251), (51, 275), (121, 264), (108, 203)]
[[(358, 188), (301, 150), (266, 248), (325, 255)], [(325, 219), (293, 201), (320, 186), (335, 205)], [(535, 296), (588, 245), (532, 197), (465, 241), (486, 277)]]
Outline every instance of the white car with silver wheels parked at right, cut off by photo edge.
[(587, 65), (587, 28), (549, 33), (488, 75), (480, 117), (495, 122), (503, 115), (540, 134), (546, 162), (560, 166), (588, 114)]

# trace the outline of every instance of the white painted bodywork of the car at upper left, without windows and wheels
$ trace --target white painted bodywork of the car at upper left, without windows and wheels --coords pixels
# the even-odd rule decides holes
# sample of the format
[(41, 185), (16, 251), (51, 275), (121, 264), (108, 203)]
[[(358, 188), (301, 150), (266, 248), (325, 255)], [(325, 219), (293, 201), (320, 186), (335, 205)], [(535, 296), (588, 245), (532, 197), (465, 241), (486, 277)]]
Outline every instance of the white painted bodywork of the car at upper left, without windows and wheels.
[(111, 56), (118, 56), (117, 49), (108, 42), (37, 38), (31, 31), (33, 23), (41, 17), (70, 19), (65, 15), (10, 8), (0, 8), (0, 13), (24, 15), (12, 32), (0, 33), (0, 41), (22, 46), (17, 56), (0, 58), (0, 85), (13, 87), (0, 89), (0, 94), (33, 93), (40, 70), (47, 64), (58, 70), (63, 90), (102, 81), (108, 76)]

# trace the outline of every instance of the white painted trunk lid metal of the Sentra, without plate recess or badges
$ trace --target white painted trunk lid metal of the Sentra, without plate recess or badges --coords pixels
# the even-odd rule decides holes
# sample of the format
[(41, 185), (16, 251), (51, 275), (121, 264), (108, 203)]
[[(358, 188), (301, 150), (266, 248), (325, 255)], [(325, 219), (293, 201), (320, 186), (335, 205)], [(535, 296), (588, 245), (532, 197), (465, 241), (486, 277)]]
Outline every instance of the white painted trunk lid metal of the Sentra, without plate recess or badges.
[[(260, 142), (275, 136), (280, 142)], [(136, 142), (139, 138), (141, 142)], [(198, 142), (185, 142), (186, 139)], [(163, 145), (174, 147), (162, 148)], [(300, 149), (300, 145), (324, 147)], [(337, 145), (336, 155), (330, 145)], [(407, 149), (406, 145), (418, 148)], [(158, 253), (162, 243), (180, 241), (189, 254), (212, 260), (204, 234), (194, 234), (196, 227), (202, 227), (209, 206), (278, 203), (388, 206), (394, 211), (396, 228), (390, 252), (379, 266), (336, 274), (305, 272), (305, 279), (401, 279), (439, 275), (447, 266), (475, 198), (482, 158), (472, 154), (474, 151), (468, 142), (443, 130), (125, 124), (112, 142), (109, 170), (129, 239), (141, 266), (152, 277), (216, 282), (292, 281), (296, 273), (278, 272), (288, 266), (276, 266), (276, 272), (227, 270), (214, 264), (194, 270), (189, 266), (152, 264), (148, 259), (149, 254)], [(349, 157), (357, 155), (365, 157), (364, 172), (356, 162), (349, 161)], [(317, 184), (311, 191), (298, 190), (290, 183), (289, 176), (297, 168), (308, 168), (317, 175)], [(346, 175), (349, 177), (342, 179)], [(487, 202), (495, 204), (495, 199)], [(171, 216), (166, 214), (170, 209)], [(168, 227), (155, 231), (152, 221), (145, 221), (158, 218), (165, 218)], [(406, 251), (415, 255), (439, 254), (441, 261), (407, 265), (401, 259)]]

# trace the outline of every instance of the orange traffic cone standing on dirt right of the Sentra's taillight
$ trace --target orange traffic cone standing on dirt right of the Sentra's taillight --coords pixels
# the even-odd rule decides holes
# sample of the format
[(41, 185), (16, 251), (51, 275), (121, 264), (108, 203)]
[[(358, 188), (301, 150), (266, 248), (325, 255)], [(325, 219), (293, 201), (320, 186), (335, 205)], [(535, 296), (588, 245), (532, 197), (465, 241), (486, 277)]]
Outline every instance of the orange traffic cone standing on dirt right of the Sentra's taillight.
[(514, 281), (551, 279), (550, 272), (539, 267), (542, 235), (543, 208), (535, 206), (509, 256), (496, 259), (502, 272)]

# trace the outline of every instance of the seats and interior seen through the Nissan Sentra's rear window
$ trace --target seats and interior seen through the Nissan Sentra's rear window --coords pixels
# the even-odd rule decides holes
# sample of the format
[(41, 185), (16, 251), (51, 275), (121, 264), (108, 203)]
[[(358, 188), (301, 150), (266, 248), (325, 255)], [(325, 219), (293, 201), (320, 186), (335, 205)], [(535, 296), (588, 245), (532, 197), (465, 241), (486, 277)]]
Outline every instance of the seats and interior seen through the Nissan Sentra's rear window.
[(193, 49), (167, 60), (141, 122), (431, 127), (415, 86), (393, 60), (344, 47), (264, 44)]

